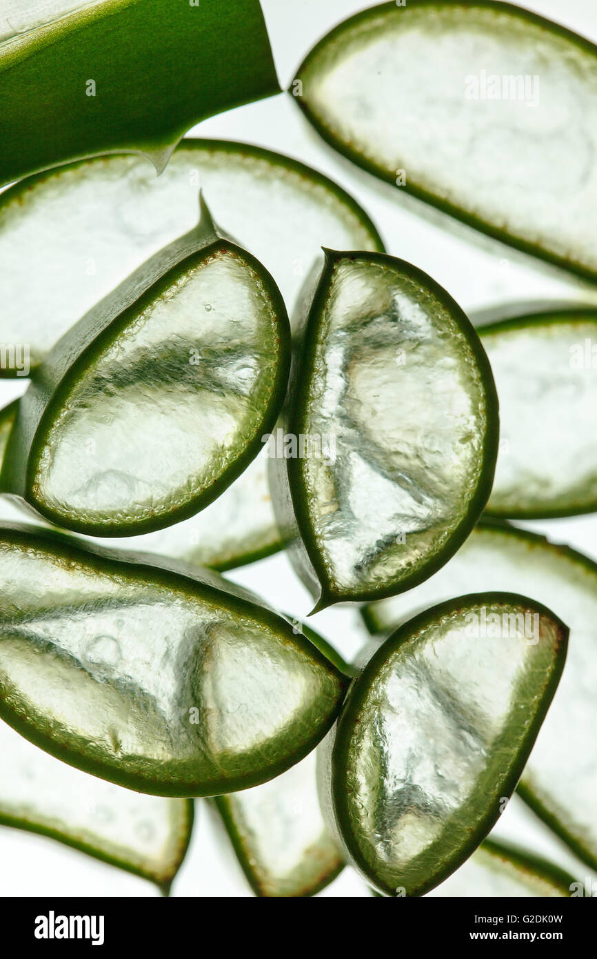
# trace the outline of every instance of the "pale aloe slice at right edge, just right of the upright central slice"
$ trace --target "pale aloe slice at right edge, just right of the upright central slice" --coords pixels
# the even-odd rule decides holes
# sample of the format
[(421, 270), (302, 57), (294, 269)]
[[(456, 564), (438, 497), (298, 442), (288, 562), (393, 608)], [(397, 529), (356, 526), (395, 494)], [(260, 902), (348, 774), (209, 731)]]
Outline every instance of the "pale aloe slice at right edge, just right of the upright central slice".
[(520, 316), (478, 332), (500, 400), (487, 512), (536, 519), (597, 510), (597, 311)]

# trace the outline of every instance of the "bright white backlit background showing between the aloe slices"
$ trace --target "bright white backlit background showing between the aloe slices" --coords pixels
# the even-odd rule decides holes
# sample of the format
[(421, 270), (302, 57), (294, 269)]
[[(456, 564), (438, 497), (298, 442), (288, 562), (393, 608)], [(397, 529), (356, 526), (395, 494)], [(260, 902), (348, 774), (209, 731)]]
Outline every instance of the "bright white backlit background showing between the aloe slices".
[[(370, 4), (356, 0), (262, 0), (262, 6), (280, 82), (287, 88), (316, 40), (335, 23)], [(565, 4), (562, 0), (531, 0), (526, 6), (597, 43), (596, 0), (566, 0)], [(319, 140), (286, 94), (231, 110), (190, 132), (278, 150), (330, 175), (368, 211), (379, 227), (388, 252), (425, 269), (468, 313), (520, 300), (584, 298), (587, 302), (597, 301), (597, 293), (591, 295), (580, 281), (556, 269), (543, 268), (507, 246), (480, 237), (468, 227), (430, 211), (424, 204), (360, 172)], [(248, 238), (245, 244), (250, 248)], [(0, 382), (0, 406), (22, 392), (24, 386)], [(526, 526), (597, 559), (597, 515)], [(230, 575), (299, 619), (305, 618), (312, 607), (310, 596), (282, 555)], [(346, 657), (350, 658), (364, 639), (354, 609), (326, 610), (310, 621)], [(516, 797), (496, 831), (550, 856), (578, 877), (585, 878), (588, 873)], [(49, 894), (159, 895), (149, 882), (128, 876), (52, 840), (0, 827), (0, 896)], [(240, 868), (204, 804), (197, 803), (191, 850), (174, 882), (172, 895), (250, 895)], [(369, 894), (364, 883), (347, 869), (321, 895)]]

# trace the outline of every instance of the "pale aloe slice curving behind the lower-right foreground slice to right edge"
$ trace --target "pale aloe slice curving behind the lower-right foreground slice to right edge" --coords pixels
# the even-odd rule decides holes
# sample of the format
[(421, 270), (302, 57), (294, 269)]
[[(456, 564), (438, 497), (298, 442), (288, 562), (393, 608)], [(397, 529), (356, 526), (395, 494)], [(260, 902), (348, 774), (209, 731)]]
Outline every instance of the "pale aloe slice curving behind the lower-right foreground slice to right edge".
[(407, 596), (366, 606), (365, 621), (372, 632), (386, 634), (415, 612), (471, 590), (523, 590), (550, 603), (570, 626), (562, 683), (518, 791), (597, 869), (597, 564), (534, 533), (481, 523), (443, 570)]

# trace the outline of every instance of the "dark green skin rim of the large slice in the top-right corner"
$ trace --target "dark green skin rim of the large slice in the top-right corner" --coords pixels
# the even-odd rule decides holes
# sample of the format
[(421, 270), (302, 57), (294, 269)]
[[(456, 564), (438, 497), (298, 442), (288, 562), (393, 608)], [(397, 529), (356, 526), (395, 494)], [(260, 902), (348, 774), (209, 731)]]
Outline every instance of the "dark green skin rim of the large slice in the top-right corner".
[[(333, 148), (333, 150), (342, 153), (361, 169), (365, 170), (367, 173), (378, 176), (380, 179), (391, 183), (393, 186), (396, 185), (395, 172), (389, 172), (381, 163), (376, 163), (373, 158), (364, 156), (362, 152), (356, 149), (356, 146), (342, 139), (338, 131), (331, 129), (330, 126), (323, 123), (317, 112), (311, 108), (309, 99), (309, 74), (310, 70), (312, 69), (313, 61), (316, 61), (324, 53), (329, 57), (331, 56), (329, 48), (332, 47), (334, 43), (337, 43), (339, 48), (342, 49), (343, 45), (347, 43), (347, 37), (345, 34), (348, 30), (352, 28), (358, 28), (361, 25), (365, 26), (377, 14), (395, 12), (398, 16), (400, 16), (409, 9), (413, 11), (419, 9), (425, 10), (425, 7), (437, 7), (437, 5), (438, 0), (407, 0), (407, 4), (404, 5), (404, 8), (402, 9), (399, 7), (397, 10), (397, 5), (393, 2), (393, 0), (389, 0), (389, 2), (381, 3), (378, 6), (357, 12), (344, 22), (339, 23), (333, 28), (332, 31), (330, 31), (329, 34), (322, 37), (312, 48), (312, 50), (310, 50), (310, 53), (303, 60), (296, 71), (296, 79), (303, 82), (305, 94), (303, 96), (293, 96), (292, 99), (296, 101), (297, 106), (308, 118), (310, 124), (317, 131), (319, 136), (321, 136), (321, 138), (325, 140), (326, 143)], [(440, 5), (445, 8), (449, 7), (450, 5), (455, 7), (464, 6), (466, 8), (479, 8), (481, 10), (491, 10), (496, 13), (504, 12), (506, 14), (510, 14), (521, 21), (522, 24), (527, 23), (529, 26), (540, 27), (555, 37), (562, 38), (563, 41), (567, 42), (572, 49), (578, 49), (586, 56), (587, 60), (591, 60), (593, 64), (597, 64), (597, 46), (594, 43), (586, 39), (585, 36), (575, 34), (572, 31), (567, 30), (561, 24), (554, 23), (553, 21), (540, 16), (539, 13), (526, 10), (522, 7), (517, 7), (514, 4), (503, 2), (503, 0), (471, 0), (471, 2), (465, 4), (462, 3), (462, 0), (443, 0)], [(434, 40), (430, 39), (429, 42), (433, 43)], [(594, 66), (592, 69), (594, 69)], [(447, 213), (449, 216), (454, 217), (460, 222), (466, 223), (468, 226), (471, 226), (490, 237), (493, 237), (501, 243), (514, 246), (523, 253), (528, 253), (531, 256), (539, 257), (541, 260), (544, 260), (547, 263), (569, 270), (583, 279), (589, 280), (593, 283), (597, 280), (597, 271), (586, 262), (583, 262), (583, 258), (580, 254), (575, 256), (574, 252), (572, 252), (568, 256), (563, 256), (559, 252), (555, 252), (546, 246), (541, 246), (538, 243), (532, 243), (529, 240), (526, 240), (512, 232), (508, 232), (506, 228), (497, 222), (489, 222), (482, 219), (480, 216), (475, 216), (473, 213), (464, 210), (460, 206), (450, 202), (445, 197), (439, 196), (426, 189), (422, 183), (417, 181), (416, 170), (408, 171), (406, 181), (401, 185), (401, 190), (404, 190), (406, 193), (411, 194), (417, 199), (424, 200), (426, 203), (431, 204), (432, 206), (441, 210), (443, 213)]]

